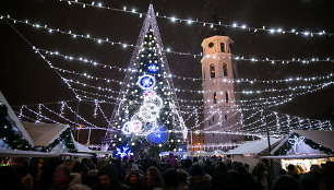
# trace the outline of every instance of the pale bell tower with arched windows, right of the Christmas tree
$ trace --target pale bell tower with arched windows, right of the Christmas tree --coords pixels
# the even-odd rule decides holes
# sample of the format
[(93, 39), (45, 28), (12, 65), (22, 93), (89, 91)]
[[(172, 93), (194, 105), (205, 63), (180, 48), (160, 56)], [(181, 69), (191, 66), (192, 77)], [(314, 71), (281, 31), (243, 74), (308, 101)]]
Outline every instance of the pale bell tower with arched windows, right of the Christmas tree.
[(232, 61), (232, 40), (228, 36), (215, 35), (202, 41), (204, 143), (237, 142), (243, 139), (236, 134), (210, 131), (228, 131), (241, 127), (237, 112), (237, 68)]

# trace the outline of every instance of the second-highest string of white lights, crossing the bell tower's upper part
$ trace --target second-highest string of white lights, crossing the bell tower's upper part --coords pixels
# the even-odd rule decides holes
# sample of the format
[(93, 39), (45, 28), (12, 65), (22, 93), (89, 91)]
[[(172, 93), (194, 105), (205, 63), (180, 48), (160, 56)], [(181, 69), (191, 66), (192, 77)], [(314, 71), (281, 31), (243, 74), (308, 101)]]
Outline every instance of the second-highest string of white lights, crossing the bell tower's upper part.
[[(121, 41), (111, 41), (109, 40), (109, 38), (98, 38), (98, 37), (92, 37), (91, 35), (83, 35), (83, 34), (74, 34), (72, 33), (72, 31), (61, 31), (59, 28), (51, 28), (51, 27), (48, 27), (47, 25), (39, 25), (39, 24), (33, 24), (33, 23), (29, 23), (27, 20), (26, 21), (21, 21), (21, 20), (15, 20), (15, 19), (12, 19), (10, 15), (7, 15), (7, 16), (3, 16), (0, 14), (0, 20), (3, 20), (5, 19), (7, 21), (12, 21), (13, 23), (21, 23), (21, 24), (26, 24), (28, 26), (33, 26), (35, 28), (41, 28), (41, 29), (46, 29), (48, 31), (49, 33), (59, 33), (59, 34), (64, 34), (64, 35), (70, 35), (72, 36), (73, 38), (76, 38), (76, 37), (80, 37), (80, 38), (84, 38), (84, 39), (90, 39), (90, 40), (93, 40), (97, 44), (102, 44), (102, 43), (106, 43), (106, 44), (109, 44), (109, 45), (120, 45), (122, 46), (123, 48), (127, 48), (127, 47), (135, 47), (135, 45), (133, 44), (127, 44), (127, 43), (121, 43)], [(191, 56), (193, 58), (202, 58), (202, 54), (190, 54), (190, 52), (178, 52), (178, 51), (171, 51), (170, 48), (168, 49), (162, 49), (163, 51), (165, 52), (169, 52), (169, 54), (176, 54), (176, 55), (179, 55), (179, 56)], [(215, 58), (215, 56), (211, 56), (211, 55), (207, 55), (207, 57), (212, 57), (212, 58)], [(217, 59), (220, 59), (218, 57), (216, 57)], [(313, 63), (313, 62), (334, 62), (334, 59), (331, 59), (330, 57), (325, 58), (325, 59), (321, 59), (321, 58), (311, 58), (311, 59), (308, 59), (308, 58), (291, 58), (291, 59), (270, 59), (270, 58), (255, 58), (254, 57), (251, 57), (251, 58), (246, 58), (244, 56), (232, 56), (232, 57), (229, 57), (230, 59), (235, 59), (235, 60), (240, 60), (240, 61), (251, 61), (251, 62), (270, 62), (270, 63), (282, 63), (282, 64), (287, 64), (287, 63), (305, 63), (305, 64), (308, 64), (308, 63)]]

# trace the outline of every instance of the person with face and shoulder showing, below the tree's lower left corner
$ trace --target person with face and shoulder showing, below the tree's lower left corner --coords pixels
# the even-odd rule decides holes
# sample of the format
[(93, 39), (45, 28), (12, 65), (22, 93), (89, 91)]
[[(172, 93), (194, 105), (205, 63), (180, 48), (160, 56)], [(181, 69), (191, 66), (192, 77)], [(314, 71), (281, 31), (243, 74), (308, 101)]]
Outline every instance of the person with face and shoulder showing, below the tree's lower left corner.
[(119, 180), (119, 174), (114, 165), (104, 166), (97, 174), (97, 190), (128, 190), (128, 186)]

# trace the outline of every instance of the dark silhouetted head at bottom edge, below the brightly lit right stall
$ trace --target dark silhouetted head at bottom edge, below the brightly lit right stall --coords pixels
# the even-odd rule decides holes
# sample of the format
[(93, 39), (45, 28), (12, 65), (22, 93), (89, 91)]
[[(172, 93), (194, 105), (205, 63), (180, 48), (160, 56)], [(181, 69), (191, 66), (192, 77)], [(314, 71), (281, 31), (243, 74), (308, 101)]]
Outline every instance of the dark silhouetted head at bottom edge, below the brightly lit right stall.
[(274, 180), (272, 189), (273, 190), (301, 190), (298, 181), (289, 175), (278, 176)]

